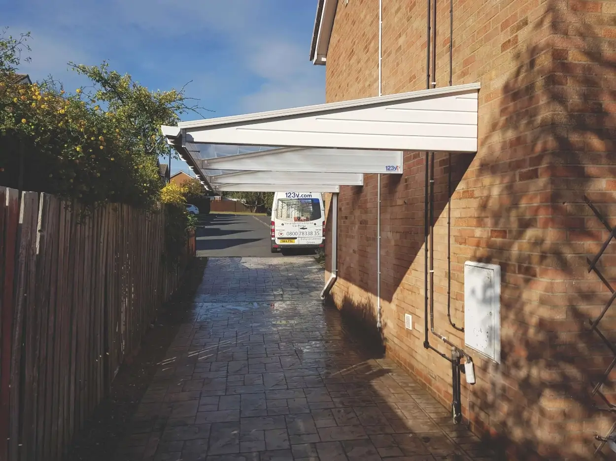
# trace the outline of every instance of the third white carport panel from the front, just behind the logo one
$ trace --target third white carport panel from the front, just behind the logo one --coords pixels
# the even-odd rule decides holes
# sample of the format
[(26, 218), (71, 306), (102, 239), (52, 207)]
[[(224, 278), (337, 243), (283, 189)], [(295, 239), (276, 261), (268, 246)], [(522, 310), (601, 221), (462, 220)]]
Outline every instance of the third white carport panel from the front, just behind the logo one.
[(330, 184), (332, 186), (363, 186), (361, 173), (298, 173), (296, 171), (242, 171), (209, 176), (216, 184)]

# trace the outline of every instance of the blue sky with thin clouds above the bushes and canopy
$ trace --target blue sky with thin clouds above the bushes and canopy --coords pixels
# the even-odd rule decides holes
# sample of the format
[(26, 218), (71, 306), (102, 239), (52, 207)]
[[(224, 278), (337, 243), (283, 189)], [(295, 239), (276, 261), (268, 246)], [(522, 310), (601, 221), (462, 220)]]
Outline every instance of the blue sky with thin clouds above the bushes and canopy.
[[(67, 62), (103, 60), (150, 89), (186, 87), (222, 117), (325, 101), (325, 71), (309, 61), (316, 0), (28, 0), (2, 7), (0, 26), (30, 31), (33, 80), (85, 82)], [(185, 120), (201, 118), (196, 114)], [(174, 160), (172, 173), (187, 170)]]

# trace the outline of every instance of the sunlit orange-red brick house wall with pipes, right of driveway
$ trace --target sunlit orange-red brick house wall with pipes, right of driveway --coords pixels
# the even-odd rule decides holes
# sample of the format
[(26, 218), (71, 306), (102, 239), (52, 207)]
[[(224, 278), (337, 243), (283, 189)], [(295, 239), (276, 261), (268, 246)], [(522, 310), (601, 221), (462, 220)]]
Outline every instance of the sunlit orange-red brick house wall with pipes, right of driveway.
[[(437, 84), (448, 84), (449, 10), (439, 2)], [(452, 155), (452, 319), (463, 325), (465, 261), (500, 264), (502, 363), (474, 353), (463, 383), (471, 427), (508, 447), (591, 459), (593, 433), (614, 418), (588, 397), (612, 355), (585, 333), (610, 292), (586, 258), (607, 238), (588, 195), (616, 226), (614, 1), (454, 0), (453, 84), (479, 81), (479, 151)], [(424, 89), (426, 5), (383, 1), (383, 94)], [(328, 101), (378, 94), (378, 2), (339, 2), (326, 71)], [(424, 157), (382, 176), (381, 298), (387, 353), (444, 404), (447, 361), (423, 348)], [(447, 154), (436, 157), (435, 325), (447, 320)], [(616, 243), (600, 270), (616, 285)], [(375, 325), (376, 176), (339, 195), (339, 280), (333, 301)], [(328, 250), (330, 251), (330, 250)], [(413, 331), (404, 314), (413, 315)], [(616, 307), (600, 324), (616, 331)], [(610, 336), (612, 337), (612, 336)], [(431, 343), (449, 348), (436, 337)], [(464, 381), (464, 379), (463, 379)], [(603, 392), (613, 393), (610, 384)]]

